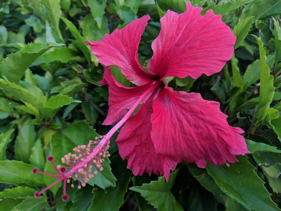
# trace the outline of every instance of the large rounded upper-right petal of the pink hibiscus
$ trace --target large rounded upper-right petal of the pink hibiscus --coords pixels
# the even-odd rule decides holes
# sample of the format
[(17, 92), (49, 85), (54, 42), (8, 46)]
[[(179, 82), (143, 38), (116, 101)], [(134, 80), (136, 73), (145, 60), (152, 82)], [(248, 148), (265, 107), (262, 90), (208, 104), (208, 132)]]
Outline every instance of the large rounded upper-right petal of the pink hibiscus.
[(233, 55), (236, 37), (212, 10), (186, 2), (186, 11), (167, 11), (160, 19), (161, 30), (152, 43), (153, 57), (148, 70), (162, 76), (198, 78), (219, 72)]

